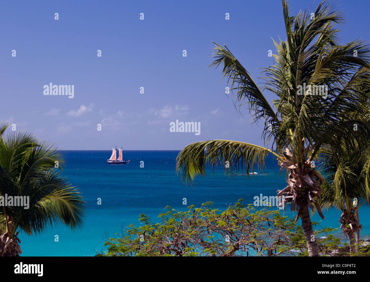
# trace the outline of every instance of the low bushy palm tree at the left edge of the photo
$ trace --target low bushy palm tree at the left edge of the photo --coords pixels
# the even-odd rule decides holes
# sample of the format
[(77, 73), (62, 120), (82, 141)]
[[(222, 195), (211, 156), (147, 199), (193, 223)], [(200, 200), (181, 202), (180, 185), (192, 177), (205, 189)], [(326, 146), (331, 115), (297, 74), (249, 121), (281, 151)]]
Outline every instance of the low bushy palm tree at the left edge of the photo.
[(23, 206), (3, 205), (0, 210), (0, 256), (19, 256), (20, 231), (41, 234), (60, 223), (81, 228), (85, 202), (60, 175), (63, 157), (57, 148), (29, 133), (4, 135), (6, 127), (0, 124), (0, 196), (22, 197)]

